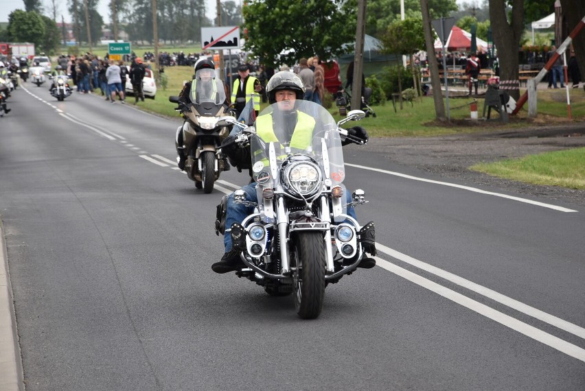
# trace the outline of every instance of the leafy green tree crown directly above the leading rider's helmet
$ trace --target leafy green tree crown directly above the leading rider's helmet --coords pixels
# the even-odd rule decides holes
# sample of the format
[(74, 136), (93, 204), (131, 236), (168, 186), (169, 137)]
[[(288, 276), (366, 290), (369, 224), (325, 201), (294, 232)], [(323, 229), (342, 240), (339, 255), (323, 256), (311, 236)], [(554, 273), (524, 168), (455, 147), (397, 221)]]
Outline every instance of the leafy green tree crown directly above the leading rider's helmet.
[(266, 65), (314, 54), (331, 58), (355, 40), (356, 7), (343, 0), (251, 0), (242, 12), (245, 49)]

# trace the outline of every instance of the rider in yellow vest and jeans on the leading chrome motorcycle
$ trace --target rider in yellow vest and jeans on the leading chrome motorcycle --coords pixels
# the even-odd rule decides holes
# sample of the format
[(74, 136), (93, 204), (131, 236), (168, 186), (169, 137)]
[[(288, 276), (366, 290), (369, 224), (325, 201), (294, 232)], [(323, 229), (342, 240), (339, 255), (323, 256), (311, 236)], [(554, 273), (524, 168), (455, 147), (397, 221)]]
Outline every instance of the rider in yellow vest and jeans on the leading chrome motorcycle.
[[(273, 112), (257, 117), (255, 122), (256, 134), (260, 139), (266, 142), (276, 142), (279, 140), (290, 140), (290, 150), (292, 153), (295, 150), (307, 150), (312, 145), (313, 132), (319, 129), (314, 117), (297, 110), (297, 101), (302, 101), (305, 95), (305, 87), (301, 78), (290, 71), (281, 71), (275, 73), (266, 85), (266, 95), (268, 95), (268, 103), (275, 108)], [(325, 108), (323, 108), (325, 110)], [(279, 123), (278, 129), (273, 126), (273, 123)], [(334, 125), (334, 124), (331, 124)], [(288, 134), (283, 134), (284, 132)], [(348, 133), (357, 139), (362, 139), (367, 143), (367, 132), (355, 126), (348, 130)], [(238, 147), (234, 143), (235, 136), (230, 136), (222, 144), (222, 153), (226, 154), (231, 163), (236, 163), (238, 169), (250, 169), (251, 154), (257, 151), (251, 151), (250, 147)], [(349, 141), (347, 142), (349, 143)], [(343, 145), (347, 143), (342, 143)], [(246, 194), (246, 200), (257, 202), (256, 182), (242, 187)], [(227, 199), (227, 211), (225, 217), (225, 226), (231, 227), (234, 222), (242, 222), (246, 216), (253, 212), (253, 207), (244, 206), (243, 204), (235, 204), (233, 202), (233, 193)], [(347, 207), (347, 214), (356, 218), (353, 207)], [(216, 273), (227, 273), (234, 270), (239, 270), (243, 267), (240, 260), (240, 250), (231, 247), (231, 229), (226, 228), (224, 233), (225, 254), (221, 261), (211, 265), (211, 269)], [(374, 268), (376, 260), (369, 258), (363, 259), (358, 267), (360, 268)]]

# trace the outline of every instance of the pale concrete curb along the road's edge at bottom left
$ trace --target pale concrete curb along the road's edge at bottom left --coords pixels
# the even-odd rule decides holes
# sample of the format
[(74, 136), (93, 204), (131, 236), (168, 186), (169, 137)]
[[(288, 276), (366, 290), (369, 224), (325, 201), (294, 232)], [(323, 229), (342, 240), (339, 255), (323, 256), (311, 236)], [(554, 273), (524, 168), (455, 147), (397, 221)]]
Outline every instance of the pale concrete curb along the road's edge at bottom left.
[(0, 219), (0, 388), (5, 391), (24, 391), (23, 366), (16, 332), (7, 254)]

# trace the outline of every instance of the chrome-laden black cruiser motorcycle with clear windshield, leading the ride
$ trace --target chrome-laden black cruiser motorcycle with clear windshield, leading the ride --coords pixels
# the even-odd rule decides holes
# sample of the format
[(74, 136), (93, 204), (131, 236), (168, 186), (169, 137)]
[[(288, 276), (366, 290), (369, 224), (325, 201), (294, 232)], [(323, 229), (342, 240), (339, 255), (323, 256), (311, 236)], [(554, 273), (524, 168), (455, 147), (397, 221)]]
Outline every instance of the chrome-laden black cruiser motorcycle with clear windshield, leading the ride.
[[(272, 115), (277, 105), (263, 110), (256, 123)], [(234, 202), (254, 212), (229, 228), (232, 247), (241, 250), (245, 265), (236, 274), (263, 286), (271, 296), (293, 294), (297, 314), (311, 319), (321, 313), (325, 286), (356, 270), (364, 252), (376, 254), (375, 228), (374, 222), (360, 226), (348, 213), (347, 206), (367, 201), (359, 189), (349, 198), (343, 185), (341, 137), (363, 141), (349, 136), (341, 125), (363, 118), (365, 112), (352, 110), (335, 123), (327, 110), (312, 102), (297, 101), (296, 109), (317, 124), (306, 150), (295, 149), (299, 140), (286, 137), (277, 115), (277, 141), (262, 139), (254, 128), (233, 118), (225, 120), (241, 128), (234, 142), (251, 147), (258, 200), (250, 202), (244, 191), (236, 191)], [(218, 205), (218, 235), (225, 232), (225, 200)]]

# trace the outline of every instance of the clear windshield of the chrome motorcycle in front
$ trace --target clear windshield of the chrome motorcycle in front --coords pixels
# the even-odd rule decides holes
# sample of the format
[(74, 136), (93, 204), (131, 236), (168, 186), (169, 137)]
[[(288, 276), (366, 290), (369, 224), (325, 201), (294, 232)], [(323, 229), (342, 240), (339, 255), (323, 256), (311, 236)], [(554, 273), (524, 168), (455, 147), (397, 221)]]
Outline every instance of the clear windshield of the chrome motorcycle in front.
[[(341, 137), (328, 110), (309, 101), (282, 101), (268, 106), (255, 121), (250, 139), (254, 180), (279, 183), (279, 167), (292, 155), (313, 158), (325, 181), (337, 185), (345, 179)], [(271, 164), (271, 150), (274, 159)]]

